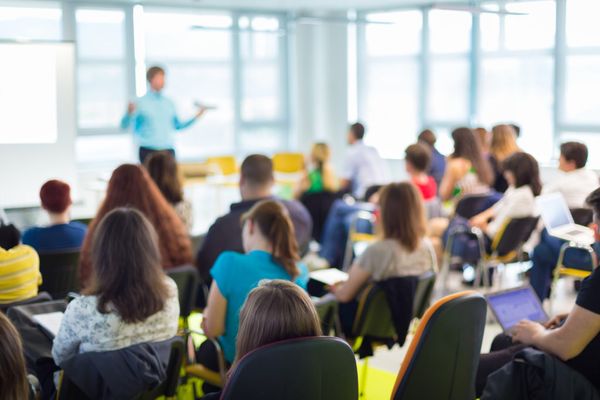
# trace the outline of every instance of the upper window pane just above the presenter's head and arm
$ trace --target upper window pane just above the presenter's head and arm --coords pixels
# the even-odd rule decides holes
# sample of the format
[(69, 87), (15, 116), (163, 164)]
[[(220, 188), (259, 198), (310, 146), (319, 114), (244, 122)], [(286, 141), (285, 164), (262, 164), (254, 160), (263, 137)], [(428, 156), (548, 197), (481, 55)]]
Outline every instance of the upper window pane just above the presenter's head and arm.
[[(144, 12), (146, 57), (156, 60), (225, 60), (231, 57), (231, 26), (225, 14)], [(211, 28), (218, 28), (213, 30)]]

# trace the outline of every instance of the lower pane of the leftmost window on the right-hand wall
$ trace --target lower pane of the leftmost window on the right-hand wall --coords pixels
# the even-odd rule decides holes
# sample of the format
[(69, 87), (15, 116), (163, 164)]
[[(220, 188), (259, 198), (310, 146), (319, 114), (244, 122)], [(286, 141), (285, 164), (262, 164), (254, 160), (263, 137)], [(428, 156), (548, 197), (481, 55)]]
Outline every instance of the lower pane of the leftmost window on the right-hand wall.
[(415, 141), (418, 123), (419, 64), (416, 60), (367, 65), (364, 115), (366, 142), (385, 158), (402, 158)]

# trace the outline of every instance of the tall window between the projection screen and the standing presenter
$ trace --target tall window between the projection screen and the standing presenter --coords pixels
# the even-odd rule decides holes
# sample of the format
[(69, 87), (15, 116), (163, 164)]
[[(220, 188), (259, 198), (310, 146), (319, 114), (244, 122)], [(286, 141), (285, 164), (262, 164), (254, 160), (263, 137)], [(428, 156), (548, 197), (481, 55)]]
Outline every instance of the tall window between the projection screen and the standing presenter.
[(79, 128), (114, 132), (133, 97), (127, 90), (125, 12), (83, 8), (75, 20)]

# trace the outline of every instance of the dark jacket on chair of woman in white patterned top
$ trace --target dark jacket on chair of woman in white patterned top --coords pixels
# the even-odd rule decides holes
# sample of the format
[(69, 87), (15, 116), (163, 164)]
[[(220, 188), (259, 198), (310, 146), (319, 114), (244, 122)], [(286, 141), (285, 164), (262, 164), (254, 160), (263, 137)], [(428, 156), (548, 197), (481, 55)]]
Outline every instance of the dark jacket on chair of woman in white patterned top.
[[(158, 386), (167, 376), (173, 338), (119, 350), (81, 353), (61, 365), (65, 379), (90, 399), (132, 399)], [(61, 388), (62, 389), (62, 388)], [(74, 396), (83, 398), (82, 395)]]

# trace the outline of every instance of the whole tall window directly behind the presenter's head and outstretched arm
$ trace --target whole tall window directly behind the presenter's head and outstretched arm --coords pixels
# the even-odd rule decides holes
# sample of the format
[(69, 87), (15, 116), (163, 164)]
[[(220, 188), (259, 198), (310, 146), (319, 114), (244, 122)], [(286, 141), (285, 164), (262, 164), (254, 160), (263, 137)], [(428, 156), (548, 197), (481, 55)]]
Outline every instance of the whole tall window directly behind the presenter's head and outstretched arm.
[(235, 148), (232, 24), (227, 13), (144, 9), (145, 63), (165, 68), (165, 95), (175, 102), (179, 118), (191, 118), (197, 102), (217, 107), (177, 135), (181, 158)]

